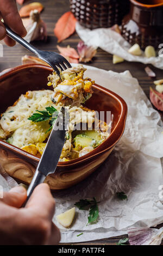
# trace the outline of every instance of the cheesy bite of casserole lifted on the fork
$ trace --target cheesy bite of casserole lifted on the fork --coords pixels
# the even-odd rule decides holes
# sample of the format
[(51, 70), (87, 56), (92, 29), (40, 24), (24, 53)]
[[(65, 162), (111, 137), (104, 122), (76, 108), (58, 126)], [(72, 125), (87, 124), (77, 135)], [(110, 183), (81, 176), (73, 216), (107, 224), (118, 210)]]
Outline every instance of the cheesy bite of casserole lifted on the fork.
[[(53, 102), (65, 106), (80, 106), (92, 96), (92, 84), (90, 78), (83, 78), (85, 68), (78, 65), (76, 68), (69, 68), (60, 73), (56, 72), (48, 77), (48, 86), (54, 87)], [(62, 81), (61, 81), (62, 80)]]

